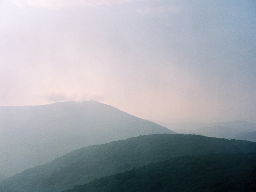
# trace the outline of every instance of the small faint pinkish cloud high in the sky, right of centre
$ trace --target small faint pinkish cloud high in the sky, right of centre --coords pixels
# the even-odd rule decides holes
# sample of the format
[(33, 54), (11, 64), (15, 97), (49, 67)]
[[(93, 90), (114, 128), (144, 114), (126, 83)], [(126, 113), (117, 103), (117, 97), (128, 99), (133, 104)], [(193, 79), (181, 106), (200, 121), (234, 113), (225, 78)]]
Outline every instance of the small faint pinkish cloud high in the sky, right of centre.
[(168, 6), (168, 7), (145, 7), (142, 9), (137, 9), (136, 10), (140, 14), (145, 14), (145, 15), (162, 15), (165, 16), (169, 13), (176, 14), (181, 12), (181, 9), (178, 7), (174, 6)]

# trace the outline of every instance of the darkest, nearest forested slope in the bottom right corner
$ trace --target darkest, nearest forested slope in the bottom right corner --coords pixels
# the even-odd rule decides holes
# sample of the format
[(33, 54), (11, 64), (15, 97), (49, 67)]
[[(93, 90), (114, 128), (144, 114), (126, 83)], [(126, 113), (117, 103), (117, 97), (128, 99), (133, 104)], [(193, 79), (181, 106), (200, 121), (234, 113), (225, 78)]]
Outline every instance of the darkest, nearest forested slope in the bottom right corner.
[(95, 179), (63, 192), (256, 191), (256, 153), (182, 156)]

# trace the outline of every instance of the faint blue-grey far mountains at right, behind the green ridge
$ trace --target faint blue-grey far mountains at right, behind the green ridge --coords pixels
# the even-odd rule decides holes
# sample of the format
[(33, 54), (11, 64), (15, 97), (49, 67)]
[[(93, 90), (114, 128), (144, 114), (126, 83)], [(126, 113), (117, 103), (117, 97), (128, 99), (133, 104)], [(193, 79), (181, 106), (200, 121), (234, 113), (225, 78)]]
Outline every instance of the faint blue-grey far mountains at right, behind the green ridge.
[(228, 121), (215, 123), (161, 123), (177, 133), (201, 134), (208, 137), (239, 139), (256, 142), (256, 123), (248, 121)]

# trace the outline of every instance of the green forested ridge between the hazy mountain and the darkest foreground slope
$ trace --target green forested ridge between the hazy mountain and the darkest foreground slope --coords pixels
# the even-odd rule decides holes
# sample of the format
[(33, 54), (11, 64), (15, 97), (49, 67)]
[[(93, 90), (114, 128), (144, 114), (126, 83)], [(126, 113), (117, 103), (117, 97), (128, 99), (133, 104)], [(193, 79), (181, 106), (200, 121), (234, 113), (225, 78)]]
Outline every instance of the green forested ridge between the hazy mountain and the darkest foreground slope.
[(59, 192), (94, 178), (184, 155), (256, 152), (256, 143), (201, 135), (153, 134), (92, 145), (0, 182), (1, 192)]

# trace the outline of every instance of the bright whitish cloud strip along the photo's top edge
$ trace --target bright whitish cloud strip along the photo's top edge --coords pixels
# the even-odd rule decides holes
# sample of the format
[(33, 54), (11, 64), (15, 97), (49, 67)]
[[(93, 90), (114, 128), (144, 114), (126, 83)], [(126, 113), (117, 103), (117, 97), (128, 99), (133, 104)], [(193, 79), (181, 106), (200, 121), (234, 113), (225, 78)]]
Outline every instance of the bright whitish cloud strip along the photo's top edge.
[(29, 5), (37, 8), (46, 8), (50, 10), (58, 10), (60, 8), (69, 8), (73, 6), (96, 7), (100, 5), (124, 4), (132, 1), (143, 0), (19, 0), (14, 1), (17, 6)]

